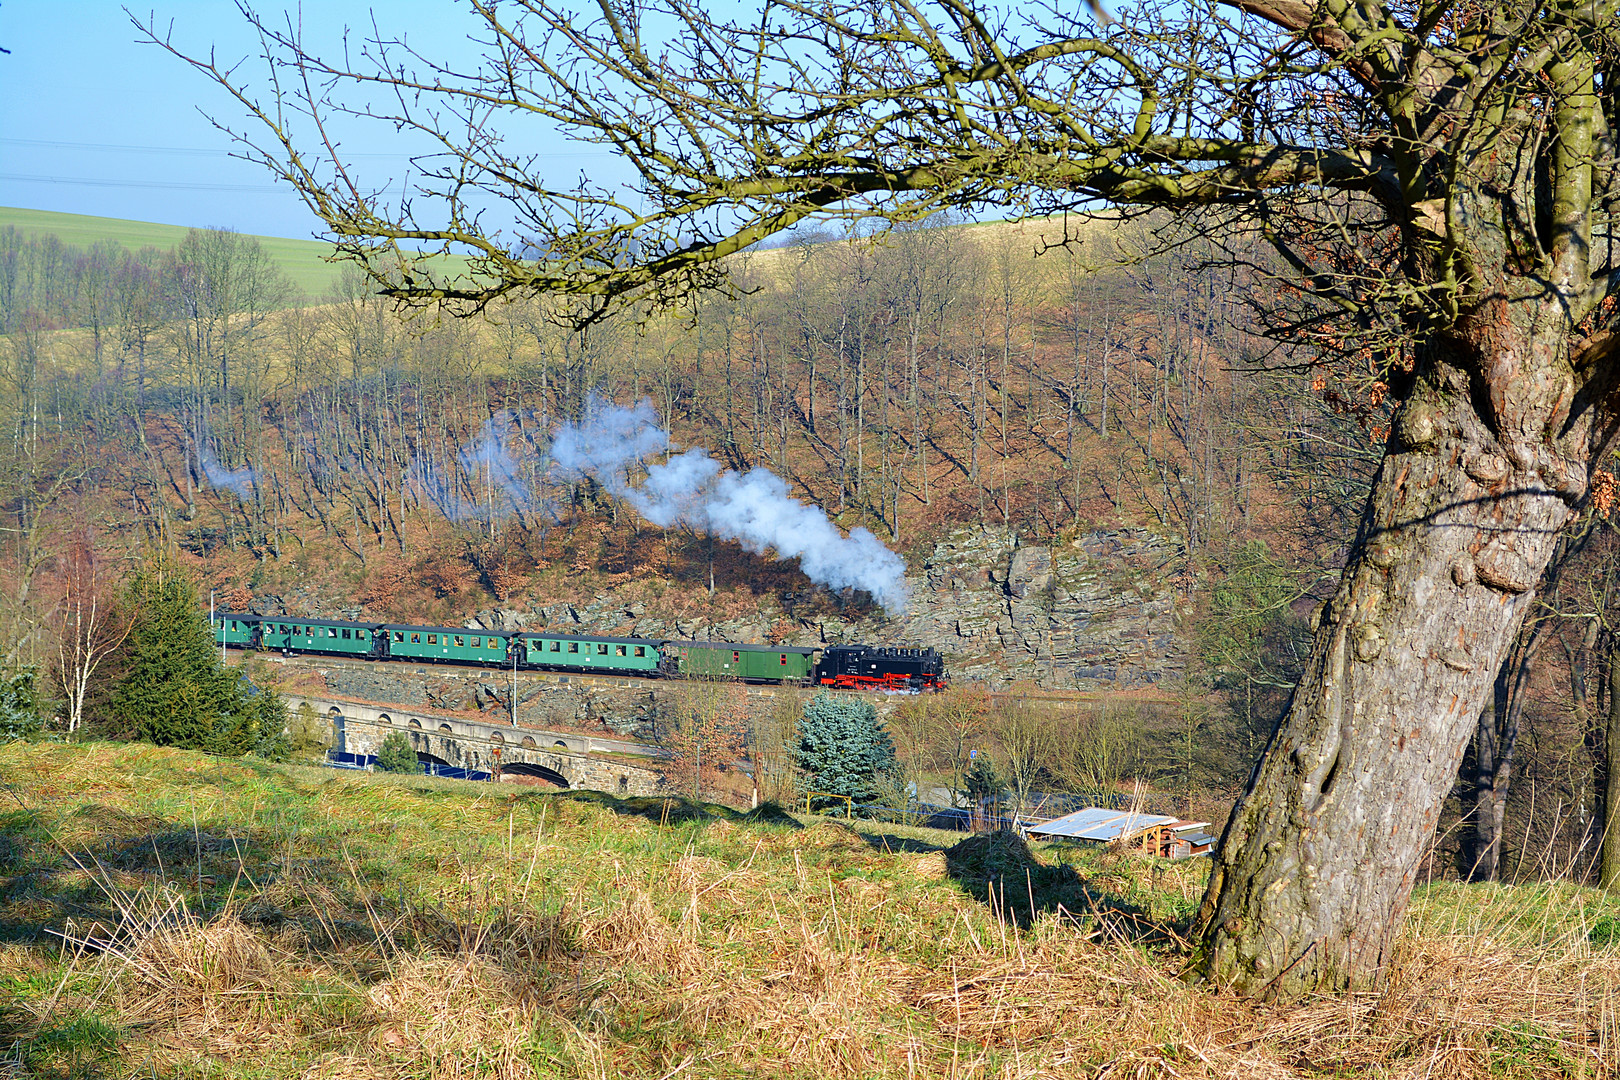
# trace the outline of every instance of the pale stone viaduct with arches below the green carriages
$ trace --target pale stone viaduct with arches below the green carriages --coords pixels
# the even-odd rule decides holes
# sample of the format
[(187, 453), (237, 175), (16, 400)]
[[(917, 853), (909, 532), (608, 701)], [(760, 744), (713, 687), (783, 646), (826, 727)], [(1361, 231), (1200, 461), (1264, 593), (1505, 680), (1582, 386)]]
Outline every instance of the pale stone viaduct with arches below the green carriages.
[[(559, 787), (582, 787), (611, 795), (658, 795), (659, 750), (645, 743), (569, 732), (514, 729), (420, 709), (360, 704), (308, 695), (288, 695), (287, 706), (308, 704), (332, 724), (332, 750), (374, 755), (390, 732), (405, 732), (423, 761), (502, 776), (533, 776)], [(611, 756), (608, 756), (611, 755)], [(643, 758), (645, 763), (635, 763)]]

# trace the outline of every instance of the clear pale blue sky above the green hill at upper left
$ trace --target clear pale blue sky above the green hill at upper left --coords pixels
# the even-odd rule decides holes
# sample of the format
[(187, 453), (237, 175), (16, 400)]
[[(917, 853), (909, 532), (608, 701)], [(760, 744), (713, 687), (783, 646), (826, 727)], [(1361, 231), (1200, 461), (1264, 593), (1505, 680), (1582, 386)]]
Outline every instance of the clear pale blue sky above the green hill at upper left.
[[(256, 47), (230, 0), (130, 6), (146, 18), (147, 5), (159, 23), (173, 21), (175, 40), (188, 52), (214, 45), (220, 60), (237, 60)], [(258, 6), (269, 15), (287, 5)], [(407, 29), (413, 42), (470, 52), (463, 42), (471, 23), (447, 0), (314, 0), (303, 11), (306, 37), (337, 42), (345, 24), (369, 23), (371, 6), (386, 29)], [(136, 39), (115, 2), (0, 0), (0, 47), (11, 50), (0, 55), (0, 206), (313, 235), (318, 222), (296, 196), (262, 168), (232, 159), (228, 139), (202, 115), (237, 121), (240, 107)], [(258, 79), (261, 68), (251, 65)], [(386, 131), (355, 131), (347, 149), (379, 186), (403, 175), (405, 154)], [(536, 149), (554, 152), (569, 172), (611, 165), (601, 154), (577, 155), (561, 139)]]

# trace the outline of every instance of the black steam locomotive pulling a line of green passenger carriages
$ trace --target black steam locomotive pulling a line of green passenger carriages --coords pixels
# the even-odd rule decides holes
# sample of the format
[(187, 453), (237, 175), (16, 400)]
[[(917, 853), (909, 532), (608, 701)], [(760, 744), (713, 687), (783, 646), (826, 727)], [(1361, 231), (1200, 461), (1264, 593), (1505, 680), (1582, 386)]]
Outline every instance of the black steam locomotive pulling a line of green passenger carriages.
[[(654, 678), (739, 678), (842, 690), (944, 690), (936, 649), (833, 644), (825, 649), (672, 638), (603, 638), (468, 627), (411, 627), (219, 612), (214, 640), (285, 656), (439, 661), (518, 670)], [(820, 659), (816, 657), (820, 653)]]

